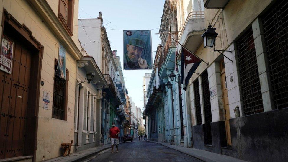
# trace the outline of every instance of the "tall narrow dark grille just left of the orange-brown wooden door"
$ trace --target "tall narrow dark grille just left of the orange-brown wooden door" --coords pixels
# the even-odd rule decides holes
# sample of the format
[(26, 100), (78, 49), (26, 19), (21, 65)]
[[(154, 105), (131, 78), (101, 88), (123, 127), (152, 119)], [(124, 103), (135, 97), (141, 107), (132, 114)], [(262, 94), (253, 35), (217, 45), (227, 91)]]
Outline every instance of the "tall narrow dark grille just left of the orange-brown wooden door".
[(212, 144), (212, 135), (211, 135), (211, 103), (210, 103), (210, 91), (209, 91), (209, 82), (208, 82), (208, 72), (207, 70), (201, 75), (202, 78), (202, 87), (203, 87), (203, 102), (204, 102), (204, 116), (205, 116), (205, 126), (204, 126), (204, 143), (211, 145)]

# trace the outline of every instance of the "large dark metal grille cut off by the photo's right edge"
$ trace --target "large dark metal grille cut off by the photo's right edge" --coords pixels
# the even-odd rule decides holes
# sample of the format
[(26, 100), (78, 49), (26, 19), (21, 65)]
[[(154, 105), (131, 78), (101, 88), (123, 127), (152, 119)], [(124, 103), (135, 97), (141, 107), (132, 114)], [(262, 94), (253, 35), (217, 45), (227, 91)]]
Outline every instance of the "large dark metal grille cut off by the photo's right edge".
[(288, 1), (277, 1), (263, 16), (265, 46), (275, 108), (288, 107)]

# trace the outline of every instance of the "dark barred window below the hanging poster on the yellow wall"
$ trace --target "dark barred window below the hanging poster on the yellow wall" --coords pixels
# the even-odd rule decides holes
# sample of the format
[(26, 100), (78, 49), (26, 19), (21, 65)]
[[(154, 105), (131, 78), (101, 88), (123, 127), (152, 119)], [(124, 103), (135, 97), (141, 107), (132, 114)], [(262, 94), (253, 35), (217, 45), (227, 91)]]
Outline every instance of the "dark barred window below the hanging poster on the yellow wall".
[[(55, 71), (58, 60), (55, 59)], [(53, 107), (52, 117), (66, 120), (67, 114), (67, 95), (68, 95), (69, 71), (66, 69), (66, 80), (54, 75)]]

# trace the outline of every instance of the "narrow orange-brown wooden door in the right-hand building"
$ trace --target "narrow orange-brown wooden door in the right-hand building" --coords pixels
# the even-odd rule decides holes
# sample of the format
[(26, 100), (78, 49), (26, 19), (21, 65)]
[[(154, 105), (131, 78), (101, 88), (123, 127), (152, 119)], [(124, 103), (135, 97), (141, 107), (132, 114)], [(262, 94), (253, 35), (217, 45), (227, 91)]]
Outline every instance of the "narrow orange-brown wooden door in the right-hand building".
[(226, 140), (228, 146), (231, 146), (231, 134), (230, 134), (230, 110), (229, 110), (229, 102), (228, 102), (228, 92), (227, 92), (227, 82), (225, 75), (225, 65), (224, 60), (220, 62), (221, 64), (221, 83), (222, 83), (222, 94), (224, 100), (224, 109), (225, 109), (225, 128), (226, 128)]

